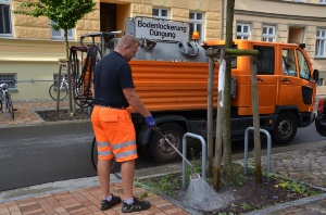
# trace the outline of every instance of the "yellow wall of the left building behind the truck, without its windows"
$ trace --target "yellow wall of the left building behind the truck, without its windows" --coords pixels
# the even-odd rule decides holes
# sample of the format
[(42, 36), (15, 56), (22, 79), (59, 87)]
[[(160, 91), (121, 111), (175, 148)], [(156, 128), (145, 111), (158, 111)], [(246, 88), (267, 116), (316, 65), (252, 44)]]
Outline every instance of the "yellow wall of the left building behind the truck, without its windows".
[[(12, 10), (22, 2), (12, 0)], [(200, 11), (206, 15), (206, 38), (220, 34), (221, 0), (95, 0), (97, 9), (77, 22), (75, 39), (70, 46), (79, 45), (82, 35), (100, 31), (100, 2), (117, 4), (117, 28), (124, 31), (125, 18), (136, 15), (151, 16), (152, 7), (171, 9), (171, 18), (188, 22), (189, 11)], [(59, 59), (65, 58), (63, 41), (51, 39), (50, 21), (47, 17), (32, 17), (14, 14), (13, 37), (0, 37), (0, 73), (16, 74), (17, 91), (13, 100), (50, 99), (48, 90), (53, 74), (58, 73)], [(122, 35), (118, 35), (122, 36)], [(87, 40), (86, 40), (87, 41)], [(88, 40), (89, 41), (89, 40)], [(34, 83), (30, 83), (34, 79)], [(42, 80), (42, 81), (37, 81)]]

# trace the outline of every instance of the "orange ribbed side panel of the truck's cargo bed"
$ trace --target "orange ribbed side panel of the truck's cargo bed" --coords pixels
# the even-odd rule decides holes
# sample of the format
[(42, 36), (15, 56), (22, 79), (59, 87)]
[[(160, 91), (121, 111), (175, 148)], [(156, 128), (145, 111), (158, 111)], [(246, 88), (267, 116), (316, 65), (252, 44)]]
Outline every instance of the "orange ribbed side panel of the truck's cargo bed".
[[(149, 111), (206, 109), (208, 63), (135, 60), (129, 64), (136, 91)], [(217, 103), (217, 74), (216, 68), (214, 106)]]

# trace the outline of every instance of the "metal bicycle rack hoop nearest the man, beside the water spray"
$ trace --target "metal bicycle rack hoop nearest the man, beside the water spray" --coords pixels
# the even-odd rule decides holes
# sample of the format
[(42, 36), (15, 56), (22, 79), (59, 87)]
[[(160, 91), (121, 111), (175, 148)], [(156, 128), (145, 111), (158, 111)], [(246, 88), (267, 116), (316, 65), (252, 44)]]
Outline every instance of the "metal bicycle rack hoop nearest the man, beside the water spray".
[[(206, 180), (206, 142), (203, 137), (195, 135), (192, 132), (186, 132), (183, 138), (183, 155), (187, 155), (187, 137), (199, 139), (202, 144), (202, 164), (201, 164), (201, 177), (203, 180)], [(187, 163), (183, 159), (183, 188), (186, 187), (186, 173), (187, 173)]]

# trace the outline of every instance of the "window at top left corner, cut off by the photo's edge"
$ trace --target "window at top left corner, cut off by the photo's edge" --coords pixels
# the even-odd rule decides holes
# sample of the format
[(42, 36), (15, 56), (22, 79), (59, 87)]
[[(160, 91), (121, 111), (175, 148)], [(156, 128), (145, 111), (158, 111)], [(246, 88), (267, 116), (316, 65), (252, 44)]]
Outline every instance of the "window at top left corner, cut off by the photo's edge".
[(11, 35), (11, 0), (0, 0), (0, 36)]

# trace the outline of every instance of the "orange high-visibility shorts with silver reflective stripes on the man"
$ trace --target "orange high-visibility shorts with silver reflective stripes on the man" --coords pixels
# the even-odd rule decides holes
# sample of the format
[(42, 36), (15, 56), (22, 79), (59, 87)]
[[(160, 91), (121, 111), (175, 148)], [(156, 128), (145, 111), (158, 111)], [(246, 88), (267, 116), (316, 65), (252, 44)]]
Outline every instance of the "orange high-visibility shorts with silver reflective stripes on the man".
[(99, 160), (115, 156), (116, 162), (125, 162), (138, 157), (135, 127), (127, 110), (95, 106), (91, 124)]

